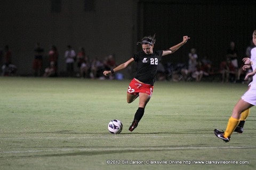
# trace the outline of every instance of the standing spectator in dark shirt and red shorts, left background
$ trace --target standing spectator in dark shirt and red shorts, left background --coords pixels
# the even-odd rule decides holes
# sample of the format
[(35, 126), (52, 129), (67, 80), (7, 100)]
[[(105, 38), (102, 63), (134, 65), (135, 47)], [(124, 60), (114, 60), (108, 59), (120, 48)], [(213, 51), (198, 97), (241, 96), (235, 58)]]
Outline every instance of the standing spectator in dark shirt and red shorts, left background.
[(33, 70), (34, 76), (41, 76), (42, 75), (42, 67), (43, 67), (43, 54), (44, 49), (40, 47), (40, 44), (36, 44), (36, 48), (34, 49), (34, 61), (33, 61)]

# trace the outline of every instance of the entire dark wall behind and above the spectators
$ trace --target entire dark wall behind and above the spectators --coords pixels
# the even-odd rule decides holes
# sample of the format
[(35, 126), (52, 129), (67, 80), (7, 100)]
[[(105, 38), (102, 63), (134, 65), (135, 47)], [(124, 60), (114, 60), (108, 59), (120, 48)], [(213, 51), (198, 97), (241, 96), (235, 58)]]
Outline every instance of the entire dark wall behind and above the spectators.
[[(163, 62), (187, 62), (190, 48), (218, 66), (225, 60), (230, 41), (245, 56), (256, 29), (256, 1), (202, 0), (1, 0), (0, 47), (9, 45), (19, 75), (32, 74), (34, 47), (56, 45), (59, 70), (65, 70), (66, 46), (85, 47), (90, 58), (114, 54), (118, 64), (140, 46), (136, 42), (156, 33), (155, 50), (191, 39)], [(124, 71), (124, 74), (128, 74)]]

